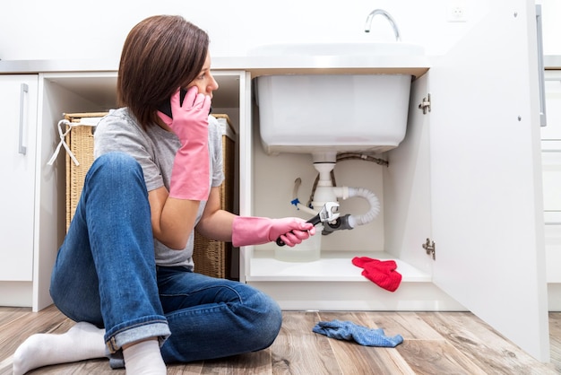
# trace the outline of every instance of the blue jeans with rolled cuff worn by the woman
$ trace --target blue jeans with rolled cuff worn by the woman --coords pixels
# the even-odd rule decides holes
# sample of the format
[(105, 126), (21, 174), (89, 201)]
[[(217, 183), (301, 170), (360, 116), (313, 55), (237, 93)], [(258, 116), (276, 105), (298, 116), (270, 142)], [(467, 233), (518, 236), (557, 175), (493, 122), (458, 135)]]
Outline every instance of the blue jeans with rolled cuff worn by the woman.
[(142, 168), (125, 153), (92, 164), (50, 292), (67, 317), (105, 327), (111, 353), (157, 336), (165, 362), (261, 350), (280, 330), (279, 305), (263, 292), (156, 266)]

